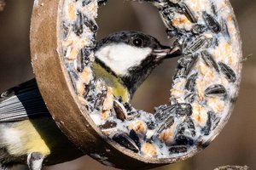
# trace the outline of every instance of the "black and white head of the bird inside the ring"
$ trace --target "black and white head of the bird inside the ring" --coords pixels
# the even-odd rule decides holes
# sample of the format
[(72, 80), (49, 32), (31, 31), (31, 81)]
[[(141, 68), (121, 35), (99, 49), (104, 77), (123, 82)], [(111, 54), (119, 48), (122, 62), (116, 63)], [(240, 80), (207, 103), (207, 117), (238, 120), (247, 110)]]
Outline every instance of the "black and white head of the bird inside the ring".
[(177, 50), (161, 45), (138, 31), (120, 31), (103, 38), (96, 45), (96, 62), (118, 77), (133, 94), (137, 87), (166, 58), (176, 57)]

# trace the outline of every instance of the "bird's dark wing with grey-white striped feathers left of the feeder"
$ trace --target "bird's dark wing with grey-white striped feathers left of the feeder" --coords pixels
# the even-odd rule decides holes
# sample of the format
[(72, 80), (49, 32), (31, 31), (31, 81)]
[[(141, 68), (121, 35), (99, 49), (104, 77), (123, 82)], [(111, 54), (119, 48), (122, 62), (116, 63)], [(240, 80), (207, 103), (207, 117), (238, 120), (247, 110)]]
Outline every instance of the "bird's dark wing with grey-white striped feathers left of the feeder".
[(10, 88), (0, 96), (0, 122), (50, 116), (35, 79)]

